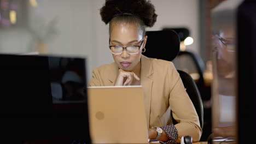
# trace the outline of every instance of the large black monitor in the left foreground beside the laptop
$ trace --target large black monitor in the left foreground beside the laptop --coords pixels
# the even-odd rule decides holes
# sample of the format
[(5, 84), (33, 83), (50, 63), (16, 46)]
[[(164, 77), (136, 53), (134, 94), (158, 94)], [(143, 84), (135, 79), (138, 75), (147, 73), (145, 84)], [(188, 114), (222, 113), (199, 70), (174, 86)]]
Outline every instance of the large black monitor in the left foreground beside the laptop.
[(1, 142), (91, 143), (86, 59), (0, 55)]

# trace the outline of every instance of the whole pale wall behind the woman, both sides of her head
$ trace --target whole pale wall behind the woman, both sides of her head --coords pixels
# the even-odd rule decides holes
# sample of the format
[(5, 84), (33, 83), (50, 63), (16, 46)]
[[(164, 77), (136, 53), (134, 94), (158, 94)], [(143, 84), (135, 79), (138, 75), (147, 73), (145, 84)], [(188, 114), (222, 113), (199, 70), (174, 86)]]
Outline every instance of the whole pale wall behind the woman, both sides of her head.
[[(27, 1), (28, 2), (28, 1)], [(28, 28), (0, 29), (1, 53), (36, 51), (36, 35), (46, 33), (42, 43), (50, 55), (71, 55), (88, 58), (88, 77), (92, 69), (113, 62), (108, 49), (108, 25), (101, 21), (104, 0), (37, 0), (38, 7), (28, 5)], [(197, 0), (153, 0), (158, 21), (148, 31), (168, 27), (188, 27), (194, 44), (188, 50), (199, 53), (199, 16)], [(41, 45), (42, 46), (42, 45)]]

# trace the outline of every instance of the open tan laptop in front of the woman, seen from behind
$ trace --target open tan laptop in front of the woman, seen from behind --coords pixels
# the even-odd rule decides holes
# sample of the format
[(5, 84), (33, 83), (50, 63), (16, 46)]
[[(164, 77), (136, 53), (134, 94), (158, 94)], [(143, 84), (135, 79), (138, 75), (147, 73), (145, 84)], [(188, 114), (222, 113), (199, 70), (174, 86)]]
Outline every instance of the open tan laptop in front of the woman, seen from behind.
[(142, 86), (88, 87), (92, 143), (149, 143)]

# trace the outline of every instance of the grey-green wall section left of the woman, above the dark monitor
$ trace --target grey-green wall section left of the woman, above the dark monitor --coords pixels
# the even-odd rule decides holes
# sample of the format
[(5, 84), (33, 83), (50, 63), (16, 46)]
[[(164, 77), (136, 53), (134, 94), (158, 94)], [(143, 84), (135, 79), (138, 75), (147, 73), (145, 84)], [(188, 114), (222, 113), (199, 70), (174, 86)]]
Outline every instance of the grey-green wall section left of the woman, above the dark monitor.
[[(27, 27), (0, 29), (0, 52), (33, 52), (37, 51), (37, 44), (43, 43), (49, 55), (86, 57), (88, 71), (92, 71), (92, 1), (37, 0), (37, 3), (38, 7), (27, 3)], [(42, 40), (37, 39), (38, 35)]]

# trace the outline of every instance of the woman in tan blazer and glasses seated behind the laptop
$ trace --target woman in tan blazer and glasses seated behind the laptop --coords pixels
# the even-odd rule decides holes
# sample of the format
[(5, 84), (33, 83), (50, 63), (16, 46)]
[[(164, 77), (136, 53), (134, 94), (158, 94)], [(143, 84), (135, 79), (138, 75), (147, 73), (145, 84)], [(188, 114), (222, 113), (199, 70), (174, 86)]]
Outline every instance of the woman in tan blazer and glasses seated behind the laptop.
[[(142, 55), (147, 43), (145, 28), (156, 22), (154, 6), (147, 0), (106, 0), (100, 13), (102, 21), (109, 23), (109, 49), (115, 62), (96, 68), (89, 86), (142, 85), (149, 139), (176, 143), (190, 135), (199, 141), (199, 117), (174, 65)], [(164, 122), (169, 106), (176, 125)]]

